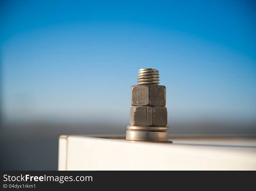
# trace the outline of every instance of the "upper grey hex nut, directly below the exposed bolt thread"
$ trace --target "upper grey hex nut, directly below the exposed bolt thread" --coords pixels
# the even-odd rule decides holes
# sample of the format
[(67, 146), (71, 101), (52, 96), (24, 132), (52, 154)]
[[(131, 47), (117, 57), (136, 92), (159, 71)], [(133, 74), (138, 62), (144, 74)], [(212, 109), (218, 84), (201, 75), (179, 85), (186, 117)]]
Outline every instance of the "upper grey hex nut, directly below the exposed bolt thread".
[(163, 85), (134, 85), (131, 87), (132, 106), (165, 106), (166, 87)]

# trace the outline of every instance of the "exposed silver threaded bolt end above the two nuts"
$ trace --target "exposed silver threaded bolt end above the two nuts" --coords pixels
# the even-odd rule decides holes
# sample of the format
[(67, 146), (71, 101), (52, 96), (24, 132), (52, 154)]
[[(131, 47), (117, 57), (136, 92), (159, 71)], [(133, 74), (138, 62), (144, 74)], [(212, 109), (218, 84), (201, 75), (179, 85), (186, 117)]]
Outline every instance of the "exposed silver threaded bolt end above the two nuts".
[(157, 85), (159, 84), (158, 70), (153, 68), (141, 68), (138, 74), (138, 84), (142, 85)]

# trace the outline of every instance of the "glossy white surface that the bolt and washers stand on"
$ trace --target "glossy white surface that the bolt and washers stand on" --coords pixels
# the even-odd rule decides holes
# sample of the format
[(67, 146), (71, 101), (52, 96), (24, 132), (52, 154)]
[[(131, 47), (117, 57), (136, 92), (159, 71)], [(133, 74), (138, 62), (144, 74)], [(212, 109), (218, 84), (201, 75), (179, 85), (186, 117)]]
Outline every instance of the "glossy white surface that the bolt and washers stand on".
[(173, 143), (60, 136), (59, 170), (256, 170), (255, 138), (172, 138)]

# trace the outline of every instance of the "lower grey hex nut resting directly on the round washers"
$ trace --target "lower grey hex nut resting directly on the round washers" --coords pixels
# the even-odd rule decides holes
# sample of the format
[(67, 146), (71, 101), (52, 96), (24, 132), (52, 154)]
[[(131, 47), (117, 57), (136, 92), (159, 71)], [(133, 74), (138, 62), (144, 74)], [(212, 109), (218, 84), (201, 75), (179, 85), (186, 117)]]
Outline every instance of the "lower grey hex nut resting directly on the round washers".
[(167, 125), (167, 109), (165, 106), (131, 106), (130, 124), (164, 127)]

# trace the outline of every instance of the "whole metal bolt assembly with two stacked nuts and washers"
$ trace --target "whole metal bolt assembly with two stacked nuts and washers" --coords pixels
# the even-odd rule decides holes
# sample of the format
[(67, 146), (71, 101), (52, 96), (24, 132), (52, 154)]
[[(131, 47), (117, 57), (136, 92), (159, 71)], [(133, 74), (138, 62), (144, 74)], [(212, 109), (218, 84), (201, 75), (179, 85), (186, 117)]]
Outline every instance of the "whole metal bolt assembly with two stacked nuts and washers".
[(127, 140), (168, 141), (166, 87), (158, 85), (158, 75), (156, 69), (139, 70), (138, 85), (131, 87)]

